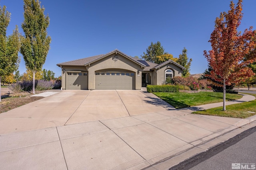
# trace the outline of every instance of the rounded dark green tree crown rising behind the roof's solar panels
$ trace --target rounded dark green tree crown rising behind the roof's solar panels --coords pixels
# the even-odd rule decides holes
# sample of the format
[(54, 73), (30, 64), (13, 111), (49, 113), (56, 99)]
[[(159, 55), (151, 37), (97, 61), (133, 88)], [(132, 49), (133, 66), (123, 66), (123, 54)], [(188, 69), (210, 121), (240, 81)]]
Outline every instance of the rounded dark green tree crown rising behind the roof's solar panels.
[(142, 59), (146, 61), (150, 61), (153, 63), (157, 63), (157, 56), (166, 54), (164, 53), (164, 48), (162, 47), (161, 43), (157, 41), (157, 43), (151, 42), (150, 46), (146, 49), (146, 53), (143, 52), (141, 55)]

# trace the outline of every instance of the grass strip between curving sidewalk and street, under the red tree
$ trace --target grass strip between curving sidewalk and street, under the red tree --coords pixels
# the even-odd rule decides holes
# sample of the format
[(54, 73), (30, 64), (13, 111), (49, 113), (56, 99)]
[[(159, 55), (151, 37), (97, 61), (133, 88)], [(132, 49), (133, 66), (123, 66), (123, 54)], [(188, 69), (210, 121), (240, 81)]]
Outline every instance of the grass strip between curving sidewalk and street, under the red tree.
[[(256, 94), (250, 94), (256, 97)], [(236, 118), (246, 118), (256, 114), (256, 100), (250, 102), (243, 102), (240, 104), (232, 104), (226, 106), (226, 111), (222, 110), (223, 107), (215, 107), (212, 109), (207, 109), (203, 111), (195, 111), (194, 114), (202, 115), (214, 115), (214, 116), (224, 116), (224, 117), (236, 117)]]

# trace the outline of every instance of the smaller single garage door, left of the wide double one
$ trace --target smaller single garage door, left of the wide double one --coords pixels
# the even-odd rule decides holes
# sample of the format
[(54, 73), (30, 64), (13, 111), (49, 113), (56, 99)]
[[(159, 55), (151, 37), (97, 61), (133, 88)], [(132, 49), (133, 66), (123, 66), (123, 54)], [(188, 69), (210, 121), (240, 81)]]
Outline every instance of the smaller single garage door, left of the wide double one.
[(87, 72), (67, 72), (68, 90), (88, 90)]

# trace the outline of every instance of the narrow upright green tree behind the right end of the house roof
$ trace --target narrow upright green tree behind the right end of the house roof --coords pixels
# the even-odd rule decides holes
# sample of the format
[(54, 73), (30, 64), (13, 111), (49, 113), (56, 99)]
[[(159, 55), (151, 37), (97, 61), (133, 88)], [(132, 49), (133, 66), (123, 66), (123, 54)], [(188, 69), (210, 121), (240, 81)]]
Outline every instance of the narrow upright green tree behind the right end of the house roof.
[(177, 60), (178, 64), (180, 64), (181, 66), (184, 66), (186, 68), (182, 72), (182, 77), (190, 76), (189, 71), (190, 71), (192, 59), (189, 59), (189, 61), (188, 61), (187, 53), (188, 53), (188, 50), (184, 47), (184, 49), (182, 50), (182, 54), (179, 55), (179, 58)]

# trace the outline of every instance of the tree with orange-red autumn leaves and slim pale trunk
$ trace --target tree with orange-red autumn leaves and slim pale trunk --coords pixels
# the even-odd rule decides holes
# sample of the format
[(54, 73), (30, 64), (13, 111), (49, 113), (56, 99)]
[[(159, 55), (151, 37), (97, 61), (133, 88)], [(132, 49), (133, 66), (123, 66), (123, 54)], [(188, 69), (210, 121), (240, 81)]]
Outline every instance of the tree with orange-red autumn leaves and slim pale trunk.
[[(254, 73), (248, 64), (256, 61), (255, 55), (246, 57), (255, 48), (255, 31), (252, 27), (245, 29), (244, 33), (237, 28), (242, 20), (242, 0), (238, 0), (237, 6), (230, 2), (228, 13), (223, 12), (215, 20), (215, 28), (209, 42), (212, 50), (204, 51), (209, 65), (212, 67), (210, 77), (223, 82), (223, 110), (226, 110), (226, 85), (238, 83), (253, 76)], [(246, 59), (247, 58), (247, 59)]]

